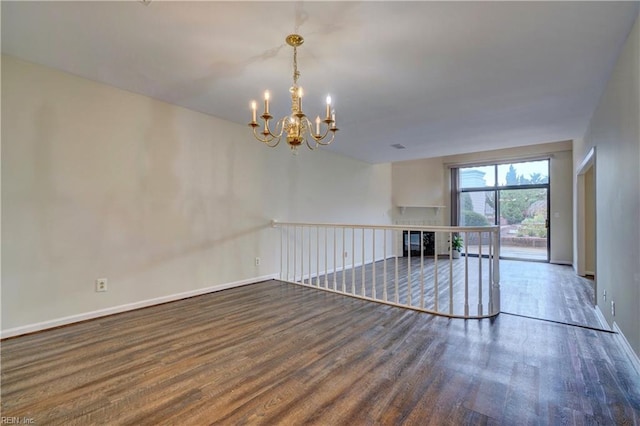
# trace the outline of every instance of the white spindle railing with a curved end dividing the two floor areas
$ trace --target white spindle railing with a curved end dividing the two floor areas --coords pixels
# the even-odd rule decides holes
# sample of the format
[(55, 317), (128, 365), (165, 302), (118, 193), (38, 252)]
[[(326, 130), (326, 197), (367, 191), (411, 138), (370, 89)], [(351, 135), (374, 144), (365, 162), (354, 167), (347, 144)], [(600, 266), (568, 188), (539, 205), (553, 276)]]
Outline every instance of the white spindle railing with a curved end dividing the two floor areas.
[[(273, 226), (282, 281), (452, 318), (500, 312), (498, 226)], [(460, 257), (454, 236), (463, 240)]]

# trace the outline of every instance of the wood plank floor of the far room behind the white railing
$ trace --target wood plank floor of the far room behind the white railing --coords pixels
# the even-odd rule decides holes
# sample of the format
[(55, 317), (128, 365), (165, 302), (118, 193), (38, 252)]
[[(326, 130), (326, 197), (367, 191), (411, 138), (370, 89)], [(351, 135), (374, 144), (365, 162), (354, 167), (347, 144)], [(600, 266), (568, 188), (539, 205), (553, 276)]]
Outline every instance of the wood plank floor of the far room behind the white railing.
[[(449, 300), (453, 296), (451, 313), (462, 316), (465, 312), (464, 268), (466, 265), (469, 282), (467, 299), (469, 313), (472, 316), (480, 316), (488, 313), (490, 280), (489, 260), (483, 258), (481, 268), (479, 268), (479, 262), (478, 257), (470, 257), (466, 262), (462, 257), (451, 263), (448, 258), (439, 259), (437, 291), (434, 259), (425, 258), (421, 268), (419, 257), (413, 258), (410, 265), (406, 257), (398, 258), (397, 292), (395, 285), (396, 261), (394, 258), (387, 260), (386, 274), (384, 262), (378, 261), (375, 262), (375, 265), (367, 264), (364, 268), (349, 268), (345, 271), (339, 270), (335, 274), (328, 273), (311, 279), (305, 278), (304, 282), (315, 287), (328, 287), (350, 294), (445, 313), (450, 312)], [(594, 304), (593, 282), (577, 276), (572, 267), (540, 262), (501, 260), (500, 268), (502, 312), (586, 327), (601, 327), (596, 311), (592, 309)], [(480, 271), (482, 271), (482, 275), (480, 275)], [(375, 293), (373, 292), (374, 275)], [(482, 277), (482, 311), (478, 309), (480, 298), (477, 283), (479, 276)], [(454, 282), (452, 294), (449, 293), (450, 278), (453, 278)], [(300, 282), (301, 279), (298, 278), (296, 281)], [(409, 286), (409, 282), (411, 286)], [(409, 299), (409, 294), (411, 294), (411, 299)]]

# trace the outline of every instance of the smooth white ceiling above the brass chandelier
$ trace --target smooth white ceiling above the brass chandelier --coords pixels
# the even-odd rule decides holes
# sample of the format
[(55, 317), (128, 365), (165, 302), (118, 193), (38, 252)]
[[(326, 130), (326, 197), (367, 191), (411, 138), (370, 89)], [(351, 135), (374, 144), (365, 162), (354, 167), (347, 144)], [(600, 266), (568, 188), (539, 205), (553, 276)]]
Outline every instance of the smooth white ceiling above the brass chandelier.
[[(331, 149), (371, 163), (585, 133), (638, 2), (7, 2), (2, 52), (237, 123), (331, 94)], [(247, 143), (258, 143), (250, 136)], [(404, 150), (392, 144), (406, 146)]]

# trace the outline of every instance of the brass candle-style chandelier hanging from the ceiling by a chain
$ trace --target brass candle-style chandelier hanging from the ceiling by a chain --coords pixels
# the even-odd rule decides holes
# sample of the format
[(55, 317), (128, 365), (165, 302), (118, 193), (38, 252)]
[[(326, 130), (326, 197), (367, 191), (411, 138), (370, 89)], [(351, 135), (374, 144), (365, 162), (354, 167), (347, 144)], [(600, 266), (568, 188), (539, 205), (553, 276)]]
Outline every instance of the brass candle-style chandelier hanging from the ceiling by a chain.
[[(257, 119), (256, 101), (251, 101), (252, 118), (249, 126), (253, 128), (253, 135), (260, 142), (273, 148), (280, 143), (283, 136), (287, 138), (287, 143), (291, 150), (296, 153), (299, 146), (306, 144), (309, 149), (317, 148), (319, 145), (329, 145), (333, 142), (338, 128), (336, 127), (336, 112), (331, 109), (331, 96), (327, 96), (327, 111), (323, 120), (320, 116), (315, 119), (315, 128), (313, 123), (307, 118), (302, 111), (302, 87), (298, 86), (298, 50), (297, 48), (304, 43), (302, 36), (298, 34), (290, 34), (285, 39), (287, 44), (293, 47), (293, 86), (289, 89), (291, 94), (291, 115), (287, 115), (276, 123), (274, 129), (269, 127), (269, 120), (273, 116), (269, 113), (269, 91), (264, 92), (264, 112), (260, 116), (262, 119), (262, 130)], [(321, 125), (321, 123), (324, 123)]]

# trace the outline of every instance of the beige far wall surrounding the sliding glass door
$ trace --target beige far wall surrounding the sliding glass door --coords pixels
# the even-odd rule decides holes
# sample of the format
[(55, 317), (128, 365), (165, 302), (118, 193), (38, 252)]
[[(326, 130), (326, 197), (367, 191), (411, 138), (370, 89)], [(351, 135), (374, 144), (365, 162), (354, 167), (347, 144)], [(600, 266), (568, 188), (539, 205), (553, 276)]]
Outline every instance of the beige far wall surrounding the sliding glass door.
[[(449, 166), (490, 163), (527, 158), (551, 158), (551, 252), (553, 263), (571, 264), (573, 260), (573, 157), (571, 141), (546, 143), (518, 148), (476, 152), (463, 155), (402, 161), (392, 165), (394, 205), (421, 203), (446, 205), (437, 213), (443, 224), (450, 223)], [(430, 185), (434, 185), (431, 187)], [(434, 213), (427, 209), (407, 209), (399, 219), (417, 222), (419, 215), (429, 221)]]

